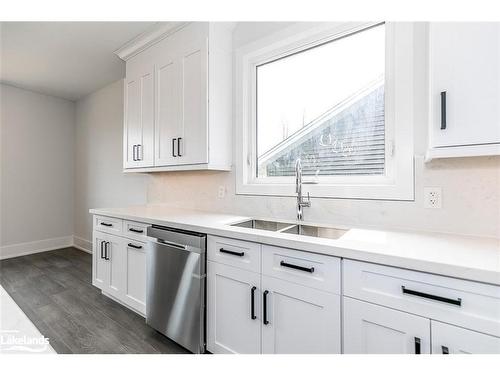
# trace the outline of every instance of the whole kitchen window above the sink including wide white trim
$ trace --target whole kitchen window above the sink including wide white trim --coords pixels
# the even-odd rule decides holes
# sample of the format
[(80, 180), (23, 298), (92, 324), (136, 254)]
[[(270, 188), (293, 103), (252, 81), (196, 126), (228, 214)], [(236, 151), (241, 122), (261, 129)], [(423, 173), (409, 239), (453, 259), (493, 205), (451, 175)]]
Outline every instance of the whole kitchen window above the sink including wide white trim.
[(293, 195), (301, 159), (311, 196), (412, 200), (411, 25), (287, 32), (237, 51), (237, 193)]

